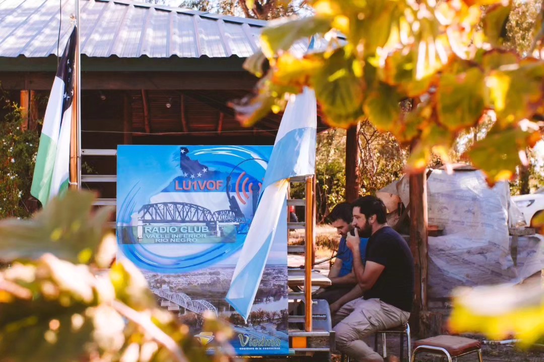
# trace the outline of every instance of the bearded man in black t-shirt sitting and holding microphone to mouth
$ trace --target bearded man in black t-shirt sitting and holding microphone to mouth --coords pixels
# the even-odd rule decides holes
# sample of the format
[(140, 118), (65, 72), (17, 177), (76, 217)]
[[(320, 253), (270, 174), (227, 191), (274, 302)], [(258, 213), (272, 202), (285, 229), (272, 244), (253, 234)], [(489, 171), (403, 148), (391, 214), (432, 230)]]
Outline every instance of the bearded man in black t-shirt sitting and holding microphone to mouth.
[[(355, 361), (383, 362), (362, 339), (380, 329), (406, 323), (412, 309), (412, 253), (404, 238), (387, 226), (386, 212), (384, 202), (374, 196), (364, 196), (353, 203), (355, 236), (348, 235), (347, 245), (354, 256), (359, 287), (354, 293), (358, 295), (339, 309), (331, 305), (338, 350)], [(360, 237), (370, 237), (366, 263), (360, 257)], [(338, 304), (341, 303), (342, 298)]]

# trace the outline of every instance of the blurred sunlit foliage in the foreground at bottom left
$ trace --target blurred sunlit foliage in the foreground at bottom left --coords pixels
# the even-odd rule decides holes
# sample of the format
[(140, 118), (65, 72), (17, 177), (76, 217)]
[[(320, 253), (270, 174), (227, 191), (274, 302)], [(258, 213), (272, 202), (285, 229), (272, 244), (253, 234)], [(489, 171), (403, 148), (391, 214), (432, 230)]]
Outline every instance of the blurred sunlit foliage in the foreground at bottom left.
[[(157, 307), (132, 264), (116, 262), (109, 208), (68, 192), (30, 220), (0, 221), (0, 361), (226, 361), (230, 329), (205, 318), (208, 355)], [(221, 348), (219, 348), (221, 347)], [(222, 352), (221, 352), (222, 351)]]

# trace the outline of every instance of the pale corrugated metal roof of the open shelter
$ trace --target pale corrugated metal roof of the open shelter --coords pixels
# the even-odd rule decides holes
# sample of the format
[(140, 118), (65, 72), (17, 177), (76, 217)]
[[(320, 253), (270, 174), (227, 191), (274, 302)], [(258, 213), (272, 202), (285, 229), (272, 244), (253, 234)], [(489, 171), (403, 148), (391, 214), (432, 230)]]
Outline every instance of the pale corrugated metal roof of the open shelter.
[[(60, 3), (62, 3), (60, 9)], [(245, 58), (265, 21), (119, 0), (81, 0), (81, 53), (120, 58)], [(0, 0), (0, 56), (62, 52), (75, 0)]]

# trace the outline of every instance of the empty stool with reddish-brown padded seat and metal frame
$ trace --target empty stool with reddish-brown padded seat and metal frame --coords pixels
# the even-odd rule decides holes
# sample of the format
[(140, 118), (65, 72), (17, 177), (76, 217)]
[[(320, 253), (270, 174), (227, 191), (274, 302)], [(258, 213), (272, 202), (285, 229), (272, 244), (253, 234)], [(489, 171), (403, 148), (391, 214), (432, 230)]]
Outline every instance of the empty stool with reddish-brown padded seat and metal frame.
[(478, 353), (479, 361), (484, 361), (480, 341), (456, 335), (437, 335), (416, 341), (411, 362), (416, 360), (416, 354), (420, 352), (446, 355), (448, 362), (452, 362), (452, 358), (457, 360), (462, 355)]

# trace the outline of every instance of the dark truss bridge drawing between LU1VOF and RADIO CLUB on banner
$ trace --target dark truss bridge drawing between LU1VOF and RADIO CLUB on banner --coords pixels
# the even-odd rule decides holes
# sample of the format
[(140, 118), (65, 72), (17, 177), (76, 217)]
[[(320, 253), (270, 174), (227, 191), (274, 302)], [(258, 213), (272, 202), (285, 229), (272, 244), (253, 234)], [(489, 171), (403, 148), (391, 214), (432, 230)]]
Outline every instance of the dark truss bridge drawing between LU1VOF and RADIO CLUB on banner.
[(234, 208), (234, 211), (225, 209), (212, 212), (206, 207), (189, 202), (156, 202), (142, 206), (138, 211), (138, 237), (142, 237), (142, 226), (153, 224), (206, 225), (209, 230), (215, 230), (218, 237), (225, 225), (236, 226), (238, 233), (247, 232), (249, 228), (248, 221), (239, 208)]

